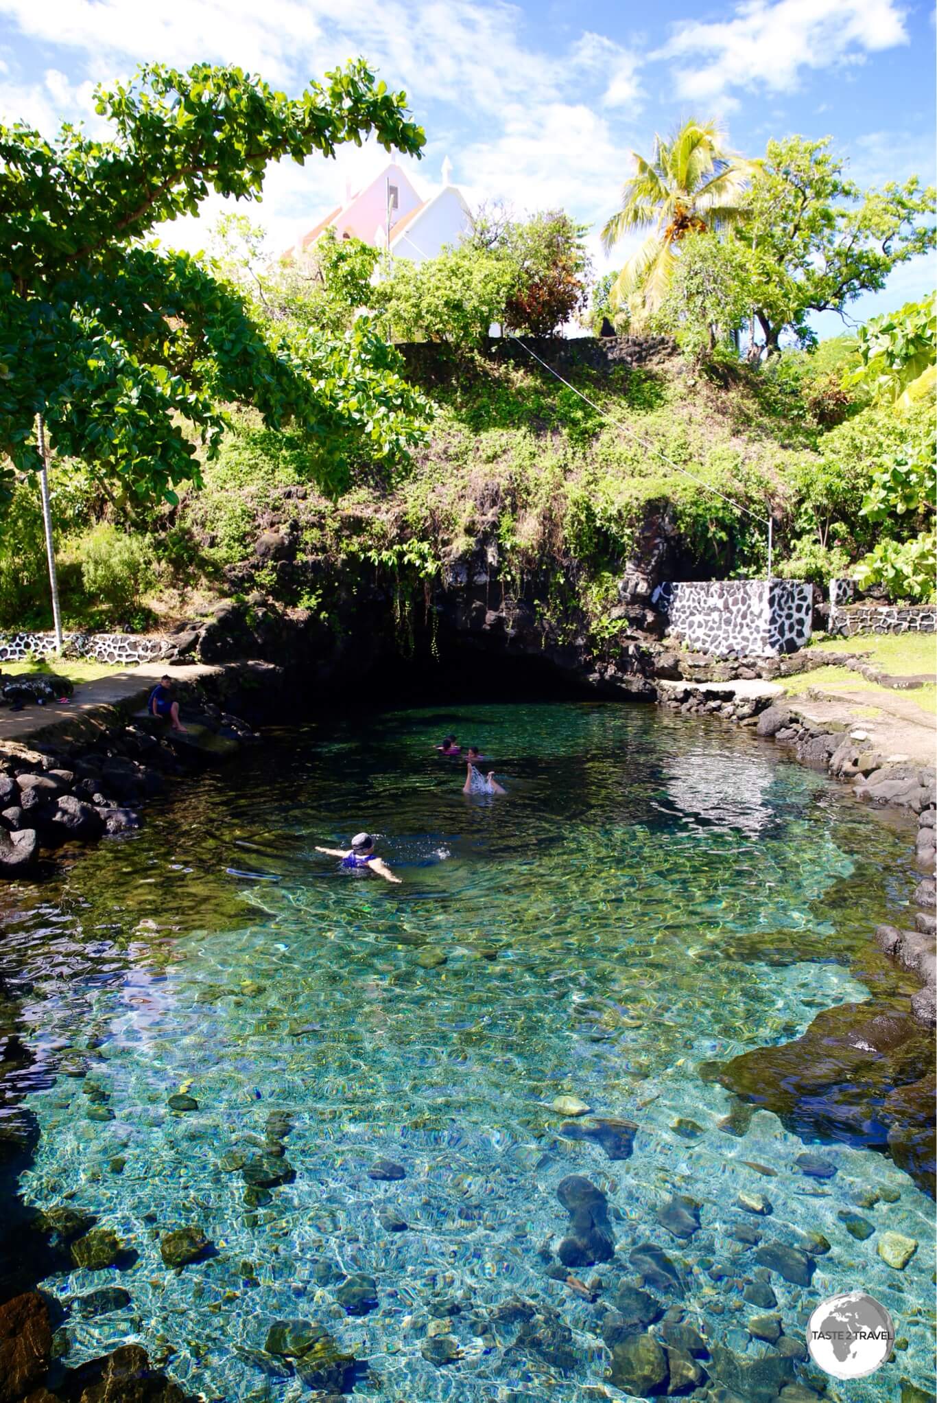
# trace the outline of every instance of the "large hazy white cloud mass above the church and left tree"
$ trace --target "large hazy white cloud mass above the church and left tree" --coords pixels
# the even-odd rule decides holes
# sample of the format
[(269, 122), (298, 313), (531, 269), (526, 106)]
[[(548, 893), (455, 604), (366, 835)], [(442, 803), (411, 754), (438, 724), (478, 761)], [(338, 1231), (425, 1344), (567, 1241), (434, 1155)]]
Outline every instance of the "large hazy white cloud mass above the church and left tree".
[[(584, 222), (607, 216), (621, 180), (624, 147), (610, 122), (638, 109), (640, 56), (598, 34), (572, 35), (562, 52), (526, 38), (523, 13), (506, 0), (0, 0), (6, 15), (56, 69), (31, 93), (17, 86), (0, 105), (29, 107), (55, 130), (74, 118), (88, 84), (128, 74), (139, 62), (185, 67), (238, 63), (300, 91), (311, 77), (363, 53), (429, 133), (425, 160), (404, 161), (418, 184), (439, 181), (445, 154), (471, 203), (502, 196), (518, 210), (562, 205)], [(65, 69), (70, 79), (66, 77)], [(283, 161), (269, 168), (262, 203), (234, 205), (285, 248), (386, 161), (373, 143), (345, 147), (335, 161)], [(206, 201), (198, 220), (161, 236), (198, 248), (226, 208)]]

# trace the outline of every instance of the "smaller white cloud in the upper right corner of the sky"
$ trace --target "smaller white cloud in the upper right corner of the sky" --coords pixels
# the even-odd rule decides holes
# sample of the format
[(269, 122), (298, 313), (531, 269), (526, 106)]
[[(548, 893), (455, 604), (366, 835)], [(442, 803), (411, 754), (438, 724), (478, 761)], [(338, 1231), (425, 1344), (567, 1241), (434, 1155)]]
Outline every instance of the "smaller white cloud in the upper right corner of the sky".
[(908, 42), (894, 0), (748, 0), (728, 21), (679, 24), (655, 58), (676, 60), (676, 93), (735, 105), (729, 88), (797, 88), (804, 69), (863, 62)]

